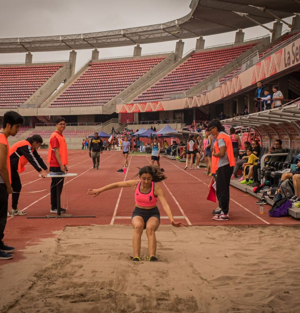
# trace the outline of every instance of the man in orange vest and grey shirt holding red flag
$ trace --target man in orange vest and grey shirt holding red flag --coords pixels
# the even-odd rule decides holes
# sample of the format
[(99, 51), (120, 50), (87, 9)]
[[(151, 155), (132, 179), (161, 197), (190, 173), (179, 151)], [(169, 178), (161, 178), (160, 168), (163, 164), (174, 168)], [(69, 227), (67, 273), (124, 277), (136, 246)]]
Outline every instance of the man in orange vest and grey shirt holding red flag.
[(219, 200), (219, 208), (212, 213), (212, 219), (224, 221), (229, 219), (229, 186), (230, 177), (235, 165), (231, 138), (225, 132), (224, 126), (218, 120), (208, 124), (212, 136), (217, 138), (212, 150), (212, 174), (216, 174), (216, 192)]

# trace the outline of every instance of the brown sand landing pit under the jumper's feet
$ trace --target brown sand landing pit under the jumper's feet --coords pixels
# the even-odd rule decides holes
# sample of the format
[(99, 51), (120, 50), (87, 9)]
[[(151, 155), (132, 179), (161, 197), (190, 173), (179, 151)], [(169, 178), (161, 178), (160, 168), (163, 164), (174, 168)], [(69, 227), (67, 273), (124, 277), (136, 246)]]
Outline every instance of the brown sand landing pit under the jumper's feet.
[(299, 312), (299, 231), (160, 226), (132, 262), (131, 227), (66, 227), (2, 261), (0, 312)]

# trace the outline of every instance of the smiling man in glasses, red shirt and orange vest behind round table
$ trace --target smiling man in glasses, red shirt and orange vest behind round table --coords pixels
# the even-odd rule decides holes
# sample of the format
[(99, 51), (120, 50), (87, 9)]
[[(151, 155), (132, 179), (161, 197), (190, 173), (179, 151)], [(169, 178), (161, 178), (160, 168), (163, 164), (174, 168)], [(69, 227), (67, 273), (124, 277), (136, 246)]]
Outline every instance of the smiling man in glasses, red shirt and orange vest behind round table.
[[(59, 117), (56, 120), (56, 130), (50, 136), (49, 149), (48, 149), (48, 162), (50, 163), (50, 172), (68, 172), (68, 149), (63, 131), (66, 129), (66, 120)], [(60, 194), (63, 190), (63, 178), (52, 178), (51, 182), (51, 210), (50, 213), (57, 213), (57, 188), (59, 184)], [(64, 208), (60, 209), (61, 213), (65, 213)]]

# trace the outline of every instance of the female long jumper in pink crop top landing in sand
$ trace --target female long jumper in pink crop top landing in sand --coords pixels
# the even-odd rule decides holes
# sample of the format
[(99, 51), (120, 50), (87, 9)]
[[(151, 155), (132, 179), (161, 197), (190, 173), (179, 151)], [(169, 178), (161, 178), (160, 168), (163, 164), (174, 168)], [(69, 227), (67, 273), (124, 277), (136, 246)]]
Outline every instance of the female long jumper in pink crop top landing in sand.
[(160, 223), (160, 214), (156, 206), (157, 198), (163, 205), (163, 209), (168, 215), (174, 227), (183, 226), (183, 223), (175, 223), (165, 198), (163, 190), (155, 182), (161, 182), (167, 177), (159, 171), (158, 167), (144, 166), (138, 172), (140, 179), (132, 179), (125, 182), (115, 182), (100, 189), (89, 189), (89, 195), (98, 196), (99, 193), (122, 187), (132, 187), (135, 196), (135, 208), (132, 213), (131, 223), (134, 228), (133, 232), (133, 261), (140, 261), (141, 253), (141, 237), (143, 230), (146, 228), (148, 237), (148, 253), (147, 259), (149, 261), (157, 261), (156, 254), (156, 237), (155, 231), (158, 229)]

